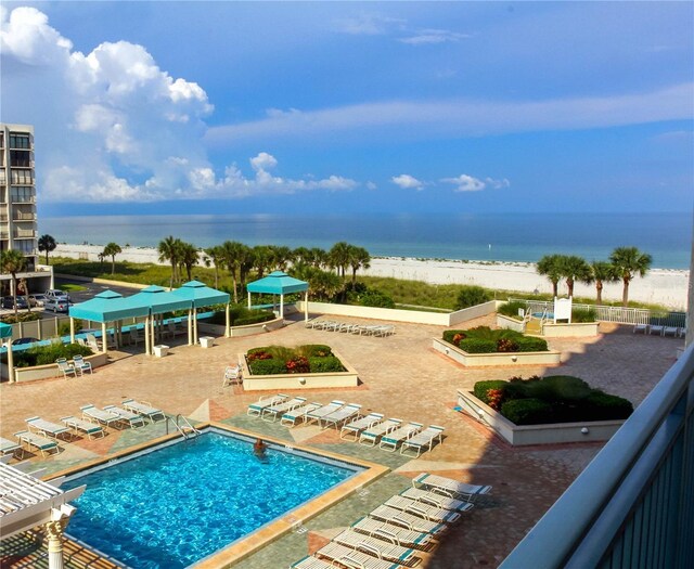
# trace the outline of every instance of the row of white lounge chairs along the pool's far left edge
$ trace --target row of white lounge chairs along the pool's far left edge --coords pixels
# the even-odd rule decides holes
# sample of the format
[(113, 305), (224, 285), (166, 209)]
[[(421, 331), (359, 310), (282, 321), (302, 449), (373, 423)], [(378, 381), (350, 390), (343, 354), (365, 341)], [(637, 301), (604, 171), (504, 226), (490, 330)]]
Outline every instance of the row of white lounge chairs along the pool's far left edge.
[(31, 449), (41, 453), (41, 456), (57, 454), (59, 441), (70, 442), (83, 436), (95, 439), (105, 436), (104, 428), (136, 428), (143, 427), (145, 418), (154, 423), (166, 419), (166, 414), (150, 403), (125, 399), (121, 406), (106, 405), (99, 409), (92, 404), (80, 408), (82, 415), (61, 417), (61, 423), (52, 423), (41, 417), (28, 417), (26, 430), (14, 434), (17, 442), (0, 438), (0, 454), (13, 454), (23, 458), (25, 452)]

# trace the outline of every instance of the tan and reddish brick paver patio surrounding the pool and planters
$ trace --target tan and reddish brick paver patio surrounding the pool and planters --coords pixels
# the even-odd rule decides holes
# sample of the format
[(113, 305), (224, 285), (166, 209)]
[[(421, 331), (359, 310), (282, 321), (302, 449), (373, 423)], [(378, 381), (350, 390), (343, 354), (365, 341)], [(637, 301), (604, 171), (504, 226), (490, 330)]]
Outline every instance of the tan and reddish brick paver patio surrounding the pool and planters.
[[(491, 319), (485, 318), (464, 327), (490, 323)], [(78, 415), (82, 404), (102, 406), (130, 397), (151, 401), (169, 414), (181, 413), (200, 422), (222, 421), (261, 435), (359, 456), (391, 469), (363, 492), (350, 495), (308, 521), (308, 531), (290, 533), (237, 564), (248, 569), (288, 567), (388, 496), (407, 488), (410, 479), (422, 471), (492, 484), (492, 495), (480, 500), (477, 507), (465, 514), (435, 551), (423, 554), (421, 567), (496, 567), (602, 444), (513, 449), (483, 425), (455, 412), (459, 388), (472, 388), (480, 379), (527, 377), (548, 370), (541, 366), (464, 368), (432, 349), (432, 338), (440, 337), (441, 332), (437, 326), (397, 323), (396, 334), (382, 338), (307, 329), (301, 322), (293, 322), (265, 335), (218, 338), (211, 349), (174, 346), (163, 359), (117, 352), (116, 361), (99, 368), (93, 376), (2, 384), (1, 434), (12, 439), (13, 432), (25, 427), (24, 418), (33, 415), (55, 422), (64, 415)], [(596, 338), (551, 340), (550, 347), (562, 351), (565, 363), (549, 372), (577, 375), (594, 387), (630, 399), (634, 405), (672, 365), (676, 348), (682, 344), (672, 338), (637, 336), (631, 334), (631, 328), (614, 325), (602, 325), (601, 332)], [(332, 346), (357, 368), (362, 383), (351, 389), (307, 391), (311, 400), (327, 402), (338, 398), (360, 403), (364, 411), (442, 425), (447, 435), (444, 444), (412, 460), (399, 453), (340, 441), (334, 430), (320, 431), (316, 427), (288, 430), (247, 417), (246, 406), (257, 400), (259, 393), (245, 393), (240, 387), (222, 388), (222, 372), (224, 365), (235, 361), (236, 353), (269, 344)], [(163, 428), (163, 424), (158, 424), (144, 429), (111, 431), (104, 439), (61, 443), (63, 452), (57, 456), (30, 460), (49, 473), (57, 471), (153, 438), (160, 435)], [(12, 567), (13, 562), (5, 558), (3, 567)]]

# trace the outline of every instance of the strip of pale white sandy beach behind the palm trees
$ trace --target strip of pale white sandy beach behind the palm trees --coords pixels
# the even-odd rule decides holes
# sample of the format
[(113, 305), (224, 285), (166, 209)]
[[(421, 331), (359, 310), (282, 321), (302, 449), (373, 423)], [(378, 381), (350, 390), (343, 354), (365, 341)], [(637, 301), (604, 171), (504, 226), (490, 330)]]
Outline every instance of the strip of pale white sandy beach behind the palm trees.
[[(60, 244), (53, 255), (98, 261), (103, 247), (97, 245)], [(154, 248), (124, 248), (116, 260), (158, 263)], [(166, 263), (163, 263), (166, 264)], [(519, 290), (551, 293), (550, 282), (539, 275), (534, 263), (485, 262), (457, 260), (422, 260), (402, 257), (374, 258), (371, 268), (359, 274), (370, 276), (391, 276), (408, 281), (423, 281), (430, 284), (479, 285), (497, 290)], [(674, 310), (684, 310), (687, 303), (690, 271), (674, 269), (653, 269), (641, 279), (635, 277), (629, 286), (629, 298), (642, 302), (664, 305)], [(621, 283), (605, 284), (603, 298), (621, 298)], [(560, 294), (566, 294), (566, 284), (560, 285)], [(576, 296), (594, 297), (594, 285), (577, 283)]]

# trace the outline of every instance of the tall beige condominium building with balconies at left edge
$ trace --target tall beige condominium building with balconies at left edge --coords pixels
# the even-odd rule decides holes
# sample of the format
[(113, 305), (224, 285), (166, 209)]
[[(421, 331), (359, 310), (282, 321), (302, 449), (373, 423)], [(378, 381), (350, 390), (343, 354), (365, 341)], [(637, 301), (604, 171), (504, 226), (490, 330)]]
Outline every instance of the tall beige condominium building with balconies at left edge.
[[(44, 290), (51, 271), (38, 262), (34, 127), (0, 124), (0, 250), (20, 250), (26, 267), (17, 279), (29, 292)], [(0, 293), (13, 294), (11, 276), (0, 273)]]

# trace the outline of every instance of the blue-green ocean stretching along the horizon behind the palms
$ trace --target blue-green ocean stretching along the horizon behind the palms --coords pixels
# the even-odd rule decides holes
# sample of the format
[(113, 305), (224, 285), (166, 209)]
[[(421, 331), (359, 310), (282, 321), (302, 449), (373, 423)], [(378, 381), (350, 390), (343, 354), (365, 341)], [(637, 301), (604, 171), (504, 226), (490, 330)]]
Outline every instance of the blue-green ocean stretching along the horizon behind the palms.
[(604, 260), (635, 246), (653, 268), (689, 269), (692, 214), (224, 215), (40, 218), (59, 243), (156, 247), (174, 235), (198, 247), (223, 241), (329, 249), (338, 241), (372, 257), (535, 262), (543, 255)]

